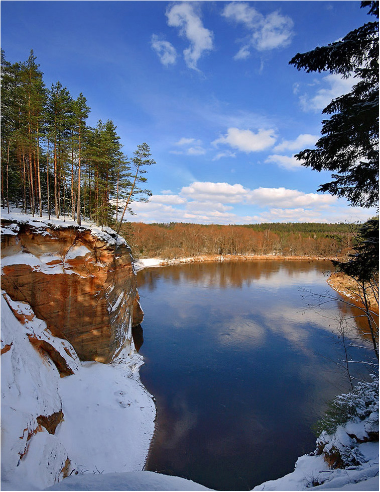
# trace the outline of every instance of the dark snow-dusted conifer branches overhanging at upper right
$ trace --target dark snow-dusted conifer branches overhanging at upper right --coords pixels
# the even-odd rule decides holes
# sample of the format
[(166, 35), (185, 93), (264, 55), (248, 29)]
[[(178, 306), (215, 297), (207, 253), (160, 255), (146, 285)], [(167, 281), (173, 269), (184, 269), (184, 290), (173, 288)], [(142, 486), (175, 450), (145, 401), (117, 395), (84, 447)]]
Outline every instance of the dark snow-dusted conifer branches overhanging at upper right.
[(330, 171), (332, 181), (318, 191), (346, 197), (352, 206), (378, 203), (378, 2), (369, 7), (372, 21), (349, 32), (341, 40), (307, 53), (298, 53), (290, 64), (306, 72), (329, 71), (357, 80), (350, 93), (334, 100), (322, 111), (322, 137), (315, 149), (296, 157), (303, 166)]

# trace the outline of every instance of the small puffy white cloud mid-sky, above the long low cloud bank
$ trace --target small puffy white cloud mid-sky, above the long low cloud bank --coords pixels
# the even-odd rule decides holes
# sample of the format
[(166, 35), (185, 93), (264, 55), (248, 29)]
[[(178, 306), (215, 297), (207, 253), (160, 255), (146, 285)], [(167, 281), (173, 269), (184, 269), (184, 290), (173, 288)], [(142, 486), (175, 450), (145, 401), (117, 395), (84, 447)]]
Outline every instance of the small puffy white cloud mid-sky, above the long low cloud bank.
[(219, 137), (212, 142), (213, 145), (227, 144), (243, 152), (259, 152), (271, 147), (277, 139), (273, 129), (260, 129), (258, 133), (251, 130), (239, 130), (238, 128), (228, 128), (227, 134)]

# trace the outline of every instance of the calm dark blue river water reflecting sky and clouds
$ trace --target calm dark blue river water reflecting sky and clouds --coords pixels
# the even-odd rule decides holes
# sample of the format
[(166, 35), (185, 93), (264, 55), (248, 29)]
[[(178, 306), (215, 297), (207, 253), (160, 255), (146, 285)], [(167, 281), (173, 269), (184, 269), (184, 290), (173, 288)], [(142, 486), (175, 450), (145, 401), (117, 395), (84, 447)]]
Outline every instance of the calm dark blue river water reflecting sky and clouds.
[(316, 300), (303, 289), (333, 293), (329, 268), (262, 261), (139, 272), (141, 379), (158, 409), (148, 470), (249, 490), (315, 449), (310, 426), (349, 390), (335, 364), (339, 302), (304, 309)]

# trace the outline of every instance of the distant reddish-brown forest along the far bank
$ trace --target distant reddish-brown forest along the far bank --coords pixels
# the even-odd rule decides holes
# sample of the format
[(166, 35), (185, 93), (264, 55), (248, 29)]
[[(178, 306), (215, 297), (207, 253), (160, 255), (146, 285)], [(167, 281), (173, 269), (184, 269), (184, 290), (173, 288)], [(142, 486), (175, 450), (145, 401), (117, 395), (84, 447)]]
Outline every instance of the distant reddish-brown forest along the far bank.
[(335, 258), (351, 253), (355, 225), (262, 223), (200, 225), (123, 224), (137, 258), (199, 255), (278, 255)]

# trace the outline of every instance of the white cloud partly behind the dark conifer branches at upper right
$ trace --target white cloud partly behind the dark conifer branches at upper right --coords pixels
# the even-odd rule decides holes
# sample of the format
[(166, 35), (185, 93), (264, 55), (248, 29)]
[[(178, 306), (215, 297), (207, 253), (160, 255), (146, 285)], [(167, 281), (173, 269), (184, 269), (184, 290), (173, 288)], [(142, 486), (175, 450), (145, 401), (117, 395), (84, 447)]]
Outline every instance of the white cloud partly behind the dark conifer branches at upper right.
[(333, 99), (347, 94), (354, 85), (353, 77), (342, 78), (339, 73), (331, 73), (322, 79), (321, 87), (314, 96), (303, 94), (300, 96), (301, 107), (304, 111), (321, 111)]

